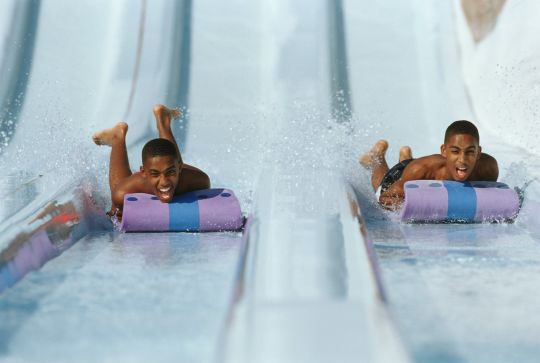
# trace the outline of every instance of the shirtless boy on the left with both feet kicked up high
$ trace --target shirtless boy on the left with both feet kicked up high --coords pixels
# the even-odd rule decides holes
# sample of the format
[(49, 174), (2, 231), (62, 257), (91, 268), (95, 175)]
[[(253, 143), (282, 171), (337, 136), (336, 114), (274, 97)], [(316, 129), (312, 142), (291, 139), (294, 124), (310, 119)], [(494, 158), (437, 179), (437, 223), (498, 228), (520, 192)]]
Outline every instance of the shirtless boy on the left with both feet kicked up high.
[(178, 110), (163, 105), (154, 107), (159, 138), (150, 140), (142, 150), (142, 166), (132, 173), (126, 149), (128, 125), (119, 122), (114, 127), (92, 136), (97, 145), (111, 146), (109, 187), (112, 207), (109, 216), (122, 218), (124, 195), (128, 193), (155, 194), (163, 203), (175, 195), (210, 187), (210, 179), (202, 170), (184, 164), (171, 130), (172, 119)]

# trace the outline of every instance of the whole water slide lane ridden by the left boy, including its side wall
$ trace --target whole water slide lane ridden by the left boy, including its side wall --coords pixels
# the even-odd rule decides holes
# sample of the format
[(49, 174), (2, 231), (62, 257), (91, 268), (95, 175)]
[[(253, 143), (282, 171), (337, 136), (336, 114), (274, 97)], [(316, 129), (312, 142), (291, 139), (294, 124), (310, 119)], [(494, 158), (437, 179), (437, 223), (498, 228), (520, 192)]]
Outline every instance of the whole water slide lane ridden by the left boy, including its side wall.
[[(241, 235), (98, 232), (109, 150), (89, 139), (125, 119), (136, 167), (141, 140), (155, 137), (153, 104), (189, 106), (190, 11), (189, 1), (41, 3), (1, 160), (24, 170), (2, 180), (12, 208), (2, 210), (0, 361), (213, 360)], [(187, 119), (176, 125), (184, 147)]]

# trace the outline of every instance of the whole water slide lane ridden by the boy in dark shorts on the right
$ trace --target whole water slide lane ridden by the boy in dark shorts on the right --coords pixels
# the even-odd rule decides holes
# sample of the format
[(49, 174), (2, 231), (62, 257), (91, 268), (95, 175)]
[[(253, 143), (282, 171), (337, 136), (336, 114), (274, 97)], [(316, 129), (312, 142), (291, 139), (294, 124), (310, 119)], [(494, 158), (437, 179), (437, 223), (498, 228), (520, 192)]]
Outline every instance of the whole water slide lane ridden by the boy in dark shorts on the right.
[[(367, 135), (371, 140), (364, 150), (378, 138), (388, 139), (393, 165), (399, 146), (410, 145), (415, 156), (435, 153), (449, 122), (476, 120), (456, 53), (459, 6), (346, 4), (347, 33), (361, 37), (347, 44), (352, 105), (366, 122), (379, 125)], [(491, 131), (497, 125), (478, 123), (484, 151), (499, 161), (501, 181), (523, 186), (537, 177), (538, 157), (524, 150), (519, 138), (508, 143), (508, 135), (503, 141)], [(390, 314), (413, 359), (535, 361), (532, 337), (540, 322), (531, 292), (539, 282), (537, 183), (527, 189), (515, 224), (404, 225), (381, 214), (367, 176), (363, 180), (360, 206)]]

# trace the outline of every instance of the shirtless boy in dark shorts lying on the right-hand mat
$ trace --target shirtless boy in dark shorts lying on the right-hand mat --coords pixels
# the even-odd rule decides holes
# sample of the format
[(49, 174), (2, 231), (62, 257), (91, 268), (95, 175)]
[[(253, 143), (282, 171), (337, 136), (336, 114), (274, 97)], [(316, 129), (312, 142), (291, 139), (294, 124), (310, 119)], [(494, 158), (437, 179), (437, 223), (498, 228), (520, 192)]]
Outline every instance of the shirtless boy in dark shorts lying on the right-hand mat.
[(478, 129), (471, 122), (453, 122), (444, 134), (441, 153), (412, 158), (411, 149), (399, 151), (399, 163), (388, 168), (386, 140), (379, 140), (360, 157), (360, 164), (371, 170), (373, 190), (380, 192), (379, 203), (390, 210), (398, 209), (405, 198), (403, 186), (409, 180), (481, 180), (497, 181), (497, 160), (482, 152)]

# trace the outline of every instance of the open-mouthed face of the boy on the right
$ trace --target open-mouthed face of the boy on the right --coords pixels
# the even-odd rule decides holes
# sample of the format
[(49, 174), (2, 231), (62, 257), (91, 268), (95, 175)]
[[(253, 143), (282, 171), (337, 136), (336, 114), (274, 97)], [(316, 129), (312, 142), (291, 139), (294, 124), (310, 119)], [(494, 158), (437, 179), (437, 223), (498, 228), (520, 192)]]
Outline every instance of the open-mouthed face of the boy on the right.
[(478, 140), (468, 134), (450, 136), (441, 146), (441, 154), (446, 158), (446, 168), (452, 179), (457, 181), (465, 181), (471, 176), (481, 152)]

